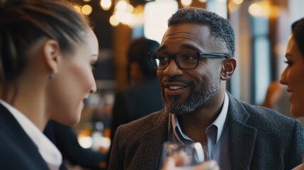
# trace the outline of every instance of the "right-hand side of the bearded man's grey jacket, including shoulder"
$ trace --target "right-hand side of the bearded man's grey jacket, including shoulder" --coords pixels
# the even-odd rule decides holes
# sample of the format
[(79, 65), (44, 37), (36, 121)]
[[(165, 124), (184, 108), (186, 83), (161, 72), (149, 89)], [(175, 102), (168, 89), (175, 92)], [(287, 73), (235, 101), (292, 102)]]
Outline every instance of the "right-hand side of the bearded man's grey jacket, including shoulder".
[(231, 169), (293, 169), (300, 164), (304, 134), (298, 120), (229, 98)]

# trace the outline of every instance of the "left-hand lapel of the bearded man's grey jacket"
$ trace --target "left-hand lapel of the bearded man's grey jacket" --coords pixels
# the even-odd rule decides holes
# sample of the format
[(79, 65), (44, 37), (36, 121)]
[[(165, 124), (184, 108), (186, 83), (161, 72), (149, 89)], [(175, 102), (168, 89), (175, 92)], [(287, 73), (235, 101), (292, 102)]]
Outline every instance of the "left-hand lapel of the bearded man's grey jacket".
[[(141, 143), (144, 144), (142, 146), (145, 148), (140, 148), (144, 151), (142, 152), (140, 164), (145, 164), (145, 166), (151, 167), (151, 169), (160, 168), (162, 145), (167, 140), (168, 118), (169, 114), (161, 111), (157, 119), (152, 120), (154, 128), (145, 132), (145, 135), (142, 137)], [(147, 155), (150, 155), (152, 159), (150, 159), (151, 157), (147, 157)]]

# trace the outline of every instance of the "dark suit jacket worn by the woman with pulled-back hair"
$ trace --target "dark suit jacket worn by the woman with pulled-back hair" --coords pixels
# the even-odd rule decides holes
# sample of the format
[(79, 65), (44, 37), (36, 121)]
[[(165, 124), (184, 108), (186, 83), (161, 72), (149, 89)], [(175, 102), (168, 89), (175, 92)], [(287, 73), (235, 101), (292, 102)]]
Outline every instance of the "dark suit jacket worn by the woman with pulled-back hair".
[(48, 169), (38, 147), (13, 115), (0, 104), (0, 169)]

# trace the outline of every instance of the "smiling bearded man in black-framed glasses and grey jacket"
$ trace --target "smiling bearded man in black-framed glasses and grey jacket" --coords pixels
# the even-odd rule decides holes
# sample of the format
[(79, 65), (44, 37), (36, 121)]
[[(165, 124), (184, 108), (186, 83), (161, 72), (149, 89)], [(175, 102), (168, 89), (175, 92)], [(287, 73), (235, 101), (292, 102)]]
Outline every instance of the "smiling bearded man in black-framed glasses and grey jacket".
[(234, 52), (235, 35), (225, 18), (191, 7), (174, 13), (159, 49), (150, 53), (164, 110), (116, 130), (109, 169), (160, 169), (166, 141), (207, 142), (220, 169), (300, 164), (300, 122), (226, 91), (237, 66)]

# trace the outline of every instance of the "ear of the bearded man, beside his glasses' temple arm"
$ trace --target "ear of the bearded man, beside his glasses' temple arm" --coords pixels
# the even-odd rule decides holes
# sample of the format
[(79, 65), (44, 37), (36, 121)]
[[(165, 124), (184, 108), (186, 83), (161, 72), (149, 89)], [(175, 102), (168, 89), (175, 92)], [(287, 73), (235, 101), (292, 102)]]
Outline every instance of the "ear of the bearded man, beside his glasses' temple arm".
[(220, 79), (227, 80), (232, 77), (233, 72), (235, 72), (235, 68), (237, 67), (237, 61), (235, 58), (227, 58), (223, 62), (222, 72), (220, 74)]

